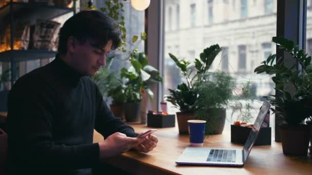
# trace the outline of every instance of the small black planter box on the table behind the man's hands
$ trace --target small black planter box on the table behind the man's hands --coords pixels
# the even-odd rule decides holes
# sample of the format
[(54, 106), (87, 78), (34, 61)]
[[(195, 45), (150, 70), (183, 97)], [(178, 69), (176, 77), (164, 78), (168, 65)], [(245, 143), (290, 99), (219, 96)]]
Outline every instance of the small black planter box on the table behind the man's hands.
[(148, 127), (175, 127), (175, 115), (147, 114)]

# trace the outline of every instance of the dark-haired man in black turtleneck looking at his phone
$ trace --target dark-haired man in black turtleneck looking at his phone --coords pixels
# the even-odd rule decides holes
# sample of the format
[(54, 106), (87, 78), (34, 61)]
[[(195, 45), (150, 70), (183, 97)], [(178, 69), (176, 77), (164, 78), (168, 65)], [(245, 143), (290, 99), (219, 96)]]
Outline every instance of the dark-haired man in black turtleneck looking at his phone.
[[(55, 59), (15, 82), (7, 117), (11, 173), (90, 174), (108, 157), (157, 145), (157, 137), (135, 138), (133, 128), (114, 118), (89, 78), (119, 43), (110, 18), (82, 11), (61, 28)], [(103, 142), (92, 143), (93, 129)]]

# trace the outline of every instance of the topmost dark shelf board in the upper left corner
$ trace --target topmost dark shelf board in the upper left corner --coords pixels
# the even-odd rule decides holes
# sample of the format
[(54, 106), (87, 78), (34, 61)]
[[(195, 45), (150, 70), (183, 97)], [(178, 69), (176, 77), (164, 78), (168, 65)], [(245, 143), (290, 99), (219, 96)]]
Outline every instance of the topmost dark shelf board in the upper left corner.
[[(10, 4), (0, 8), (0, 19), (4, 17), (9, 17), (10, 15)], [(41, 3), (22, 3), (13, 2), (13, 16), (14, 18), (20, 17), (31, 17), (35, 19), (52, 19), (64, 15), (66, 13), (74, 12), (74, 8), (59, 7), (44, 5)]]

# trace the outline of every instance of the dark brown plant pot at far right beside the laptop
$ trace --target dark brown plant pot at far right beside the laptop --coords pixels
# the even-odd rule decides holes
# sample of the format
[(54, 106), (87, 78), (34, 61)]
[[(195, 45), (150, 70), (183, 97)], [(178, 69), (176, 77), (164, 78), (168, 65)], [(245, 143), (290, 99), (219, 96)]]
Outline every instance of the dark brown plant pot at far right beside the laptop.
[(280, 125), (281, 141), (284, 155), (306, 156), (309, 147), (309, 126), (300, 124)]

